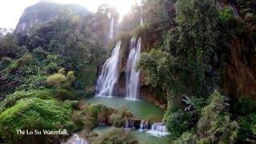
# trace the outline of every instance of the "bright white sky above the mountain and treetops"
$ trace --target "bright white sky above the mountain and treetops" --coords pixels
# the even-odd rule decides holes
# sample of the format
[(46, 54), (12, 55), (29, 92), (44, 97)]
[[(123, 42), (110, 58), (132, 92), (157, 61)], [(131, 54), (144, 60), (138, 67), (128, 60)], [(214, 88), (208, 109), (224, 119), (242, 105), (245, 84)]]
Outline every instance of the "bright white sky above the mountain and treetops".
[[(14, 29), (18, 19), (22, 16), (27, 6), (42, 0), (0, 0), (0, 28)], [(136, 0), (51, 0), (58, 3), (76, 3), (95, 12), (102, 3), (114, 6), (121, 18), (126, 14)], [(139, 1), (139, 0), (137, 0)]]

